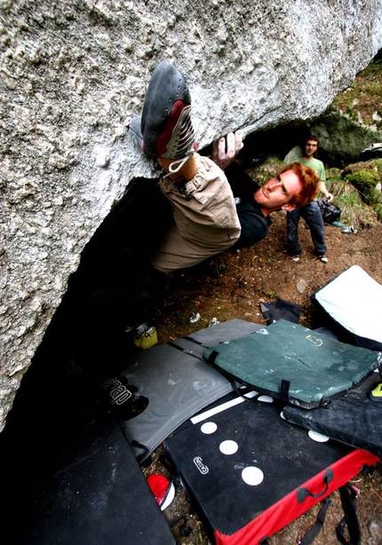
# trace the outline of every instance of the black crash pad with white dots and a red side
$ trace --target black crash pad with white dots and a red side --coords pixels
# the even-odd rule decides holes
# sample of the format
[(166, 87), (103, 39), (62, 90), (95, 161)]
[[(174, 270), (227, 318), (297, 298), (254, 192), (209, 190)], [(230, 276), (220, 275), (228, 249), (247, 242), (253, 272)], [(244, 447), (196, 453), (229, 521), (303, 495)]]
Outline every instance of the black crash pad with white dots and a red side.
[(253, 400), (184, 425), (164, 448), (219, 545), (259, 543), (378, 461)]

